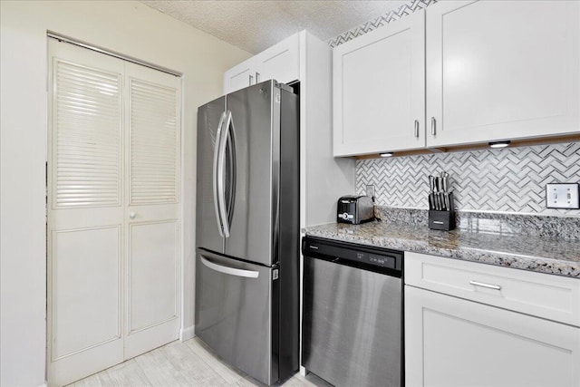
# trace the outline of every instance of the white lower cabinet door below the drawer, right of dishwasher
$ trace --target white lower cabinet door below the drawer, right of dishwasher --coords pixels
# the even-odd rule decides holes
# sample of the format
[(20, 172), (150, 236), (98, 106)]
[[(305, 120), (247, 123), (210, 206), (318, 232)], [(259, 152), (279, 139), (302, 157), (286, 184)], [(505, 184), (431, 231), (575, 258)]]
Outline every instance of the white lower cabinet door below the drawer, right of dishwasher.
[(407, 386), (578, 386), (580, 328), (405, 286)]

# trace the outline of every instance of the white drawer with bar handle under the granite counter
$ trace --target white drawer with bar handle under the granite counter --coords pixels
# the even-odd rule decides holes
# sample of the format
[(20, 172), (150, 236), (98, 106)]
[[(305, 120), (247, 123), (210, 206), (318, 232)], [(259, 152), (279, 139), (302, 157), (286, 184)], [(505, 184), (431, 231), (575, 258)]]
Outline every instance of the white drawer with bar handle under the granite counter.
[(580, 326), (580, 280), (405, 253), (405, 284)]

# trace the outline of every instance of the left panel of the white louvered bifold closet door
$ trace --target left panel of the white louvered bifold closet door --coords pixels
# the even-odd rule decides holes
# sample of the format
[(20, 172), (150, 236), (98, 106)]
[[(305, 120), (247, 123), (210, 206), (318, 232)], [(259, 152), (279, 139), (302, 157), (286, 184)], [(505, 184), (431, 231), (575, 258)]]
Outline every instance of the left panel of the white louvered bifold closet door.
[(49, 50), (47, 363), (63, 385), (123, 361), (124, 64)]

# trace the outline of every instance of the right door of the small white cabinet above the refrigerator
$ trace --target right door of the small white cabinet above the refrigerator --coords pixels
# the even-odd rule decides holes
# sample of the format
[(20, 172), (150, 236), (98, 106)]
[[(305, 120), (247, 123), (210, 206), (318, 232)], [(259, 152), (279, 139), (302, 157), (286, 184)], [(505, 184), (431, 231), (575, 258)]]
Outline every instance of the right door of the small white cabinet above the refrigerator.
[(286, 38), (279, 44), (256, 55), (256, 82), (275, 79), (288, 83), (300, 77), (299, 34)]

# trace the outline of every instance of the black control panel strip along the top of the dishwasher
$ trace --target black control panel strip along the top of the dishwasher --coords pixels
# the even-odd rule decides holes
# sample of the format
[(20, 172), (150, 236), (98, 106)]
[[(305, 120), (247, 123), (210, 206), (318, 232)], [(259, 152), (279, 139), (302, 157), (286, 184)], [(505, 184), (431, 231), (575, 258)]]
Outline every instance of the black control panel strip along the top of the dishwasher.
[(314, 255), (336, 263), (402, 270), (401, 251), (316, 237), (304, 237), (302, 249), (304, 256)]

